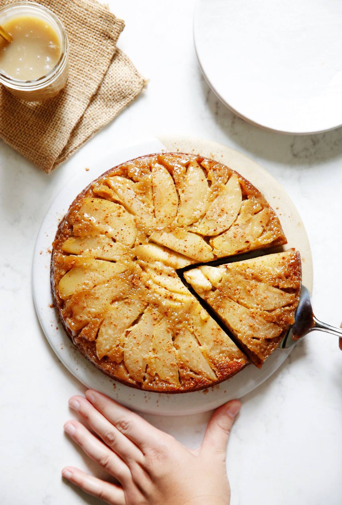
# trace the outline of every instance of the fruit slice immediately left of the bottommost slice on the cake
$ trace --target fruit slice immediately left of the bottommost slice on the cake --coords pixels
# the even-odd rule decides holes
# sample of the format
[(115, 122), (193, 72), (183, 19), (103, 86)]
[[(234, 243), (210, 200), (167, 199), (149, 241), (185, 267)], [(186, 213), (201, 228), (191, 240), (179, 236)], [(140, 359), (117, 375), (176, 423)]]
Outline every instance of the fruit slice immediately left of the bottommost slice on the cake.
[(155, 311), (146, 309), (140, 321), (130, 329), (126, 337), (125, 365), (129, 375), (138, 382), (143, 382), (154, 328), (159, 319)]

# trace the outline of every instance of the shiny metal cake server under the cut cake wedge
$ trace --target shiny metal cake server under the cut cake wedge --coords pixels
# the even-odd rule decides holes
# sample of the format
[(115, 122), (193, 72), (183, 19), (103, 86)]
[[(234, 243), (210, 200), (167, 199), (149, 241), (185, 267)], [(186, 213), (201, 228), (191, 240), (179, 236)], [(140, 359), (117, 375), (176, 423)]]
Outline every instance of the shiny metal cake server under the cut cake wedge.
[(295, 322), (287, 330), (286, 334), (279, 343), (280, 349), (288, 349), (296, 344), (308, 333), (314, 330), (326, 331), (338, 337), (342, 337), (342, 328), (336, 328), (330, 324), (322, 323), (316, 318), (311, 306), (309, 290), (302, 286), (301, 297), (296, 311)]

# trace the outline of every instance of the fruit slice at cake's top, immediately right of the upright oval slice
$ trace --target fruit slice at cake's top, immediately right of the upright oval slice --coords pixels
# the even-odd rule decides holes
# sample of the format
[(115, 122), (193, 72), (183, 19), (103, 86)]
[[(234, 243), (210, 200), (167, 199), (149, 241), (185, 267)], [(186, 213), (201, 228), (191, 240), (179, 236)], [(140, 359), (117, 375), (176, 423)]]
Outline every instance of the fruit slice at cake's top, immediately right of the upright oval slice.
[(190, 163), (187, 168), (179, 196), (177, 221), (180, 226), (190, 225), (204, 216), (208, 205), (209, 186), (207, 178), (197, 162)]

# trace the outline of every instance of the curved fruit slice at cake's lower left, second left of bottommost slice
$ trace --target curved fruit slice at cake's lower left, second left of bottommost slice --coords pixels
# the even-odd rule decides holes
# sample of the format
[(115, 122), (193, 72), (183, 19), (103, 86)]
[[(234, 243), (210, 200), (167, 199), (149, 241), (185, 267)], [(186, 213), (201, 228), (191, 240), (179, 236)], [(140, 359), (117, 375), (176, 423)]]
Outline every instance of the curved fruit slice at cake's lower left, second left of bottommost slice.
[(96, 354), (99, 360), (104, 356), (117, 363), (123, 360), (126, 330), (145, 307), (145, 301), (133, 298), (113, 302), (96, 338)]

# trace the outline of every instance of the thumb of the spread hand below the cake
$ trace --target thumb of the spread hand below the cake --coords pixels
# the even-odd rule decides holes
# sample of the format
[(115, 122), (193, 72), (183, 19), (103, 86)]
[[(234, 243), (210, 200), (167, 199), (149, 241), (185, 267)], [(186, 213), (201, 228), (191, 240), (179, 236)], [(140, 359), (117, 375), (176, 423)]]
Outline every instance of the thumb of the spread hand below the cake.
[(231, 427), (241, 408), (238, 400), (231, 400), (212, 415), (204, 435), (201, 450), (217, 452), (225, 459)]

